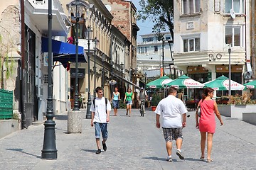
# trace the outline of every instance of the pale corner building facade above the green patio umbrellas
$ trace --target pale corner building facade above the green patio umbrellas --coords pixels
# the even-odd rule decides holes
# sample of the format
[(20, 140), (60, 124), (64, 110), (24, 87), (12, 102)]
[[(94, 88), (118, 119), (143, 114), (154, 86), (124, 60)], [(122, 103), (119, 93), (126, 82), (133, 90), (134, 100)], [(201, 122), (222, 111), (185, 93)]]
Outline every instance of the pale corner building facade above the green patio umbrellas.
[(231, 64), (231, 79), (242, 84), (245, 73), (252, 73), (250, 5), (242, 0), (174, 1), (175, 67), (206, 82), (228, 77)]

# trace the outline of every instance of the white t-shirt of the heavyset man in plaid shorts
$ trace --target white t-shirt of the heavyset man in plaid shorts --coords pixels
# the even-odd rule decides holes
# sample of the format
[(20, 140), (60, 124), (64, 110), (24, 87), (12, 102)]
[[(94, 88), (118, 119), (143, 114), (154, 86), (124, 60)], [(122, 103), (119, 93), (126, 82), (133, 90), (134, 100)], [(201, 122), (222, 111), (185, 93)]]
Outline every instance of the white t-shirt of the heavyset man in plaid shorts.
[(163, 128), (181, 128), (182, 114), (187, 113), (186, 106), (181, 99), (174, 95), (162, 99), (156, 107), (156, 114), (162, 115)]

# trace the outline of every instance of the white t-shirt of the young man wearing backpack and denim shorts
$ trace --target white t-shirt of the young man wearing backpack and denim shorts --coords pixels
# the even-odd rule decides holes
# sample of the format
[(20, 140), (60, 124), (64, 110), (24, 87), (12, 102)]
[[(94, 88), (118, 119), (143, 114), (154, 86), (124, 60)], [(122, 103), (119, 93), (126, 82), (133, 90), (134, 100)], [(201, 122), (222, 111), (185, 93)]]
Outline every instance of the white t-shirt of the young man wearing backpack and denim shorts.
[[(107, 123), (105, 97), (95, 98), (95, 106), (93, 105), (93, 102), (92, 102), (90, 111), (95, 112), (93, 122)], [(110, 101), (108, 99), (107, 99), (107, 111), (111, 111), (111, 105), (110, 105)]]

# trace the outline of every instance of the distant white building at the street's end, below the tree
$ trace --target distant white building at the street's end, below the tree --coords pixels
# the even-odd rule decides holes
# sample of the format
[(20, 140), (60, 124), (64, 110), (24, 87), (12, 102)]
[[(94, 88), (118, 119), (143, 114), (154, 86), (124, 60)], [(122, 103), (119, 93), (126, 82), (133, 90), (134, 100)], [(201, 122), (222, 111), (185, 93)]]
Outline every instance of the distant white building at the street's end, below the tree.
[(161, 35), (162, 38), (156, 33), (141, 35), (142, 42), (137, 43), (137, 68), (142, 74), (146, 73), (148, 78), (170, 74), (175, 79), (179, 73), (174, 67), (171, 33), (165, 32)]

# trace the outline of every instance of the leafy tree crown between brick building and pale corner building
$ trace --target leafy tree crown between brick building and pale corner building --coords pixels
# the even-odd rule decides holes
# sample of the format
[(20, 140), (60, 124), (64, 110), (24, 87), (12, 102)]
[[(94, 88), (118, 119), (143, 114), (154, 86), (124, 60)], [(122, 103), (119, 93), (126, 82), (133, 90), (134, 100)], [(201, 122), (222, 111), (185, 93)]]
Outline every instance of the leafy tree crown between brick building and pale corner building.
[[(138, 11), (138, 20), (146, 21), (151, 18), (153, 32), (159, 34), (166, 31), (166, 27), (174, 40), (174, 1), (173, 0), (140, 0), (142, 9)], [(159, 34), (160, 35), (160, 34)]]

